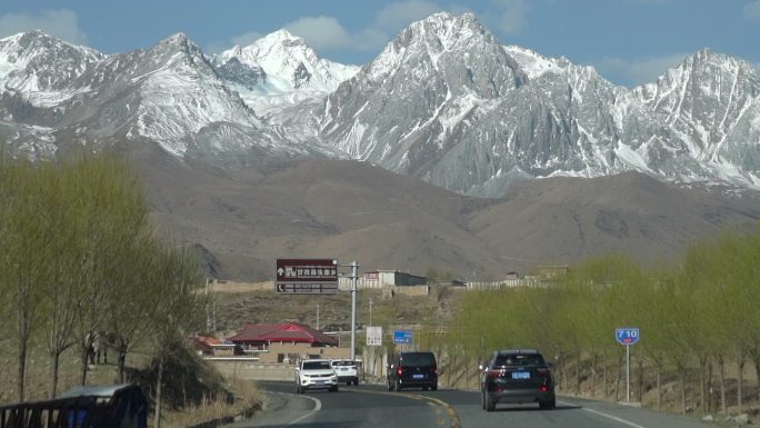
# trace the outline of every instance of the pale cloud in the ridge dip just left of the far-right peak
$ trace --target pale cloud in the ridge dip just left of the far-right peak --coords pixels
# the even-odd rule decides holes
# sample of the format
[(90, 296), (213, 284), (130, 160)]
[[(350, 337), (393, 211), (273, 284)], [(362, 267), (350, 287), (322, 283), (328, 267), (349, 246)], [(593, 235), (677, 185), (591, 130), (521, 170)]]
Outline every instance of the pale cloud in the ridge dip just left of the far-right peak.
[(603, 58), (596, 63), (600, 74), (618, 84), (629, 87), (657, 81), (668, 69), (678, 67), (689, 54), (671, 53), (663, 57), (638, 59)]

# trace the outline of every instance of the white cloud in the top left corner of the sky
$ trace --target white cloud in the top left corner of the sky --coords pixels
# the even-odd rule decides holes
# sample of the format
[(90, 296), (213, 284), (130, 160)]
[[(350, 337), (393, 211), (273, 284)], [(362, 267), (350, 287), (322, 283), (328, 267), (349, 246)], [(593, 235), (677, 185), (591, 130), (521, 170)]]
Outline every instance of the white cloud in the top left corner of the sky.
[(79, 28), (77, 13), (68, 10), (46, 10), (41, 14), (6, 13), (0, 16), (0, 37), (41, 30), (74, 44), (87, 44), (87, 34)]

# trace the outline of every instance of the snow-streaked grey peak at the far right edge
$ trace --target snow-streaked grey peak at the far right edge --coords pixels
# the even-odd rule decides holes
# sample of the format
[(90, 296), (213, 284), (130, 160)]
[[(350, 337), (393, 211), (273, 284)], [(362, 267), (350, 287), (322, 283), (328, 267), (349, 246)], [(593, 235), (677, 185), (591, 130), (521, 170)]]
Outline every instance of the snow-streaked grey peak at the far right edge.
[(704, 49), (633, 93), (664, 118), (694, 159), (723, 179), (758, 182), (760, 74), (750, 63)]

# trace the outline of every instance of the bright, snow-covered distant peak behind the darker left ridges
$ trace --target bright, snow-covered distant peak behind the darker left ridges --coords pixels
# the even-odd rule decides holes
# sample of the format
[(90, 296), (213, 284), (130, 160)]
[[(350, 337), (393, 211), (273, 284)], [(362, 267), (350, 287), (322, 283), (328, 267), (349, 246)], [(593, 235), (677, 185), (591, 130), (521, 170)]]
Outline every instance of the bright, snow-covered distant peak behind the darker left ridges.
[(213, 63), (261, 116), (332, 92), (359, 70), (319, 58), (306, 40), (287, 30), (236, 46), (214, 57)]

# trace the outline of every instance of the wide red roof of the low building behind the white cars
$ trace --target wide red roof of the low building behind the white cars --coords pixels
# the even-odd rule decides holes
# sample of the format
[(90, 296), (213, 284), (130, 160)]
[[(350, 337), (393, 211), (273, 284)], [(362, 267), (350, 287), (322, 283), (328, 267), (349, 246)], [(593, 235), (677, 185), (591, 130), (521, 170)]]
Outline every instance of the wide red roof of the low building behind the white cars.
[(336, 347), (338, 339), (309, 326), (288, 324), (247, 324), (236, 336), (227, 339), (243, 349), (269, 348), (271, 344), (308, 344), (312, 347)]

